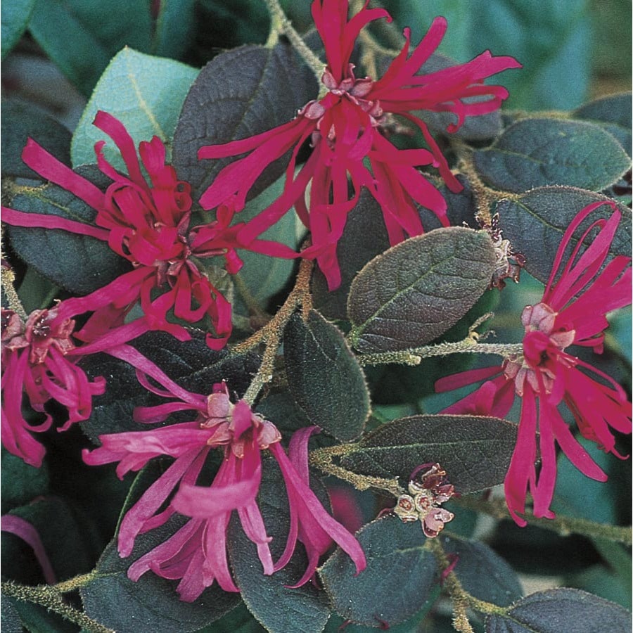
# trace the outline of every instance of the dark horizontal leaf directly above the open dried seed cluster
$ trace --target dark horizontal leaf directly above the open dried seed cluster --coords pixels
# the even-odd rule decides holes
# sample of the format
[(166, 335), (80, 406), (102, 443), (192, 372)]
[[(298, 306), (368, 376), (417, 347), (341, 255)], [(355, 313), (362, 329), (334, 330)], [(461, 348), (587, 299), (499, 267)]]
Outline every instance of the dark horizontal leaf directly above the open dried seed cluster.
[(341, 459), (344, 468), (402, 482), (423, 463), (439, 462), (456, 492), (501, 483), (516, 444), (516, 424), (480, 416), (411, 416), (379, 427)]

